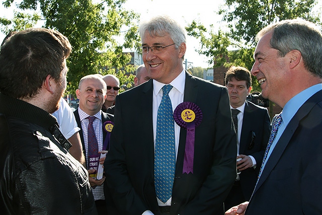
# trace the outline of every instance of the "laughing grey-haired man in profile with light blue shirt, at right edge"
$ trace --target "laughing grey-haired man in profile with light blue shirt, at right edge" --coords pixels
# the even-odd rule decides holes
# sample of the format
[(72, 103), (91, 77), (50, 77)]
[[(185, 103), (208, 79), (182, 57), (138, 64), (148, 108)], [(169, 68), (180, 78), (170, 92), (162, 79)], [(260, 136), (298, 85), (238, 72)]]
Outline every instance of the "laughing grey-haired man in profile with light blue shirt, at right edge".
[(244, 214), (246, 207), (250, 215), (322, 214), (322, 34), (295, 19), (269, 25), (257, 38), (252, 75), (262, 96), (283, 111), (272, 123), (276, 137), (250, 202), (226, 214)]

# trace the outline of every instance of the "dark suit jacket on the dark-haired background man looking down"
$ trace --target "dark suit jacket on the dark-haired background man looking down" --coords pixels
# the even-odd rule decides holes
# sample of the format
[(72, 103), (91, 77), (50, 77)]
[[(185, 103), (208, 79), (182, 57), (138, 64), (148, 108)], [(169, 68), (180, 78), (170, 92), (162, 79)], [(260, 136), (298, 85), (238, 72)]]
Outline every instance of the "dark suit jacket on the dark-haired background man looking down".
[(253, 156), (257, 166), (256, 169), (252, 167), (243, 170), (239, 175), (241, 190), (247, 200), (250, 200), (254, 191), (270, 133), (271, 121), (267, 109), (246, 101), (240, 134), (239, 155)]

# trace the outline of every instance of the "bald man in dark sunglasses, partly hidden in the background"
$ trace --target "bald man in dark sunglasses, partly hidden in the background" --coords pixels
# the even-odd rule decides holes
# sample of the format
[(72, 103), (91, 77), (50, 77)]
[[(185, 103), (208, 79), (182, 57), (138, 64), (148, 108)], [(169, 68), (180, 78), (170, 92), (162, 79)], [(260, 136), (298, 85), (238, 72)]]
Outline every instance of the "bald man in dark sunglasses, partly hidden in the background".
[[(110, 114), (114, 114), (114, 108), (111, 109), (115, 102), (115, 97), (119, 94), (120, 90), (120, 81), (114, 75), (106, 75), (103, 77), (107, 85), (106, 99), (102, 106), (102, 111)], [(110, 109), (109, 109), (110, 108)], [(111, 112), (112, 111), (112, 112)]]

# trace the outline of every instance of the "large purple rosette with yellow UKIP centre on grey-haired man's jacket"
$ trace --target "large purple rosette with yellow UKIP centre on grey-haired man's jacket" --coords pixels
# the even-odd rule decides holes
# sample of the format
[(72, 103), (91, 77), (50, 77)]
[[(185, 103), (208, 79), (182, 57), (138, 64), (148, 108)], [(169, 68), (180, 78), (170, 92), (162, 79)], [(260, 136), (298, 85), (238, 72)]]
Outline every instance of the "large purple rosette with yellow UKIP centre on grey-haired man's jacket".
[(193, 159), (195, 153), (195, 128), (198, 127), (202, 121), (201, 109), (192, 102), (183, 102), (179, 104), (173, 117), (176, 123), (187, 129), (185, 157), (183, 162), (182, 173), (193, 173)]

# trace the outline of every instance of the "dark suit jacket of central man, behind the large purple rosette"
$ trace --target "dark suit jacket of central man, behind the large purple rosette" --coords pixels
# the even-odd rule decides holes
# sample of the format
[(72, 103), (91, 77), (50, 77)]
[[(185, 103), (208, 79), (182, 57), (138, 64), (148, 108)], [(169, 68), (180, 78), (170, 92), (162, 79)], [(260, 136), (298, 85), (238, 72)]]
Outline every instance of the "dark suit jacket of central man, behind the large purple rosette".
[[(160, 214), (153, 166), (152, 80), (116, 98), (115, 126), (104, 167), (120, 214)], [(195, 130), (194, 173), (182, 174), (186, 130), (181, 128), (171, 214), (223, 214), (236, 177), (236, 136), (227, 89), (186, 73), (184, 101), (203, 114)]]

